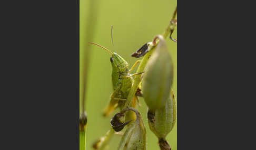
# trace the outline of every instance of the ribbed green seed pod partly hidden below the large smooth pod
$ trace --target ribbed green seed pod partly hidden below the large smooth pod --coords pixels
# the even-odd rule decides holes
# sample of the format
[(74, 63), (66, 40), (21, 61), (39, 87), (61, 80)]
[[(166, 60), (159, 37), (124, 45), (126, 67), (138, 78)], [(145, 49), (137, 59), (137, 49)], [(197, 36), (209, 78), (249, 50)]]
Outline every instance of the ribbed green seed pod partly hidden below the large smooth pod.
[(165, 141), (165, 137), (172, 131), (176, 122), (176, 103), (173, 91), (163, 108), (147, 112), (147, 119), (150, 130), (159, 138), (160, 146), (167, 147), (168, 142)]

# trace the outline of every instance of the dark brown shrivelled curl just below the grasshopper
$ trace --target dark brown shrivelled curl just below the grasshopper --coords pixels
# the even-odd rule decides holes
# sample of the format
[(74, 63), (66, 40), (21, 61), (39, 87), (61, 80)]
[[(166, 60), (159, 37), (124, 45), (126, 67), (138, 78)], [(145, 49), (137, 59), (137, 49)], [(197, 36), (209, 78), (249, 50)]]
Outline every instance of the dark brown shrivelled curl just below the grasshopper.
[(111, 119), (111, 126), (113, 127), (114, 131), (119, 132), (123, 130), (124, 126), (131, 122), (127, 121), (125, 123), (120, 121), (121, 117), (124, 117), (124, 113), (117, 113), (115, 116)]

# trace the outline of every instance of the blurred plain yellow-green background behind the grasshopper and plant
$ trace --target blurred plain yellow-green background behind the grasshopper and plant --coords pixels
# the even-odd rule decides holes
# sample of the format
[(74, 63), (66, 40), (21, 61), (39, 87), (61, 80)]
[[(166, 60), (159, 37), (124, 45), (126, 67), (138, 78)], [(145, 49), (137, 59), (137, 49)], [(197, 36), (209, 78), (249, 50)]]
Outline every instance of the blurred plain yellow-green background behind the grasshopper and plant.
[[(172, 17), (177, 5), (176, 0), (159, 1), (96, 1), (95, 8), (92, 8), (90, 1), (80, 0), (80, 55), (85, 50), (90, 50), (90, 61), (88, 68), (88, 80), (86, 89), (86, 112), (87, 143), (86, 150), (91, 150), (92, 143), (99, 137), (105, 135), (110, 129), (110, 119), (102, 116), (102, 111), (109, 102), (110, 94), (113, 92), (111, 83), (110, 54), (104, 49), (90, 45), (86, 48), (88, 41), (96, 42), (113, 52), (119, 53), (130, 66), (137, 60), (131, 57), (131, 53), (139, 49), (146, 42), (152, 41), (155, 35), (162, 34)], [(93, 11), (93, 22), (95, 25), (88, 29), (87, 25), (92, 23), (87, 20), (88, 10)], [(96, 13), (95, 13), (96, 12)], [(111, 44), (111, 26), (113, 25), (114, 46)], [(94, 29), (93, 29), (94, 28)], [(93, 33), (91, 39), (86, 41), (90, 31)], [(177, 38), (177, 28), (173, 34)], [(166, 40), (173, 62), (174, 62), (174, 84), (173, 90), (177, 98), (177, 44)], [(81, 57), (80, 70), (83, 69), (84, 60)], [(137, 67), (136, 67), (137, 68)], [(135, 69), (136, 71), (136, 69)], [(80, 81), (83, 82), (83, 73), (80, 71)], [(81, 85), (82, 83), (80, 83)], [(80, 88), (81, 89), (81, 88)], [(81, 89), (83, 90), (83, 89)], [(80, 90), (80, 93), (82, 92)], [(81, 101), (81, 96), (80, 96)], [(160, 149), (156, 136), (150, 131), (146, 119), (146, 104), (140, 98), (142, 106), (139, 111), (142, 114), (147, 130), (147, 149)], [(81, 105), (80, 105), (81, 110)], [(115, 112), (118, 112), (117, 110)], [(177, 149), (177, 124), (174, 130), (166, 137), (173, 150)], [(115, 135), (111, 141), (111, 150), (117, 149), (121, 137)]]

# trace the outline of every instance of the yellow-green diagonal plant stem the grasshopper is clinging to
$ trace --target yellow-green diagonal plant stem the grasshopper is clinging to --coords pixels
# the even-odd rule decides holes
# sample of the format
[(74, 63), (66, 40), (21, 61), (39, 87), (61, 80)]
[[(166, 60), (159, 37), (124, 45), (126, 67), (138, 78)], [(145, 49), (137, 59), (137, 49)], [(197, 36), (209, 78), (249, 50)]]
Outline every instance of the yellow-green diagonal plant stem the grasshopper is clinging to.
[[(166, 29), (164, 30), (164, 33), (162, 34), (162, 36), (163, 36), (165, 39), (166, 39), (166, 37), (168, 37), (168, 35), (171, 33), (170, 27), (173, 25), (172, 20), (175, 18), (176, 14), (177, 14), (177, 8), (175, 9), (175, 12), (174, 12), (174, 14), (173, 14), (173, 16), (172, 16), (171, 21), (169, 22), (169, 25), (166, 27)], [(149, 52), (147, 52), (146, 55), (143, 57), (143, 59), (142, 59), (142, 61), (141, 61), (141, 63), (140, 63), (140, 66), (139, 66), (139, 68), (137, 69), (136, 73), (144, 72), (144, 68), (145, 68), (145, 66), (146, 66), (146, 63), (147, 63), (147, 61), (149, 60), (150, 55), (151, 55), (151, 53), (153, 52), (153, 50), (155, 49), (155, 46), (158, 44), (158, 42), (159, 42), (159, 40), (156, 39), (155, 45), (154, 45), (153, 43), (149, 45)], [(130, 91), (128, 97), (127, 97), (127, 101), (128, 101), (129, 104), (132, 103), (132, 99), (133, 99), (133, 97), (134, 97), (134, 95), (135, 95), (135, 93), (136, 93), (136, 90), (137, 90), (137, 88), (138, 88), (140, 82), (141, 82), (141, 74), (137, 75), (137, 76), (134, 78), (134, 82), (133, 82), (133, 84), (132, 84), (131, 91)]]

